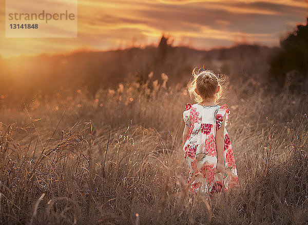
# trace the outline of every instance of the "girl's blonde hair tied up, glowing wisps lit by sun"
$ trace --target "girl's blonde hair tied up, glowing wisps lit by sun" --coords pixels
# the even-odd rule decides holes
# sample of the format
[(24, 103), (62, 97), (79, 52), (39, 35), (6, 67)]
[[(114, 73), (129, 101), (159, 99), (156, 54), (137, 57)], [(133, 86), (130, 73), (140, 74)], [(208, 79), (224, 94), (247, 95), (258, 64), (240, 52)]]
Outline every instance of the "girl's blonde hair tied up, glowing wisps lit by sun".
[[(215, 75), (213, 71), (200, 71), (201, 69), (196, 71), (196, 68), (192, 70), (194, 78), (188, 83), (190, 98), (194, 97), (198, 103), (215, 98), (214, 101), (217, 103), (222, 98), (224, 79)], [(216, 93), (218, 86), (220, 87), (219, 92)], [(195, 89), (197, 89), (198, 94)]]

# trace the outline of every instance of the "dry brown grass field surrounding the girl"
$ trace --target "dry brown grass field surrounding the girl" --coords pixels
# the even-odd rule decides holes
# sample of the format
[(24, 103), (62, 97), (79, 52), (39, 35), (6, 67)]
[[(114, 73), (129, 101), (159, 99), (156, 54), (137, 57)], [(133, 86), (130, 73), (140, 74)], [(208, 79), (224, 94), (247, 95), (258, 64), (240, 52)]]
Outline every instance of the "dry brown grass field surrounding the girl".
[(249, 82), (227, 99), (241, 185), (211, 198), (187, 191), (181, 85), (149, 80), (94, 99), (34, 99), (29, 113), (3, 108), (0, 223), (307, 223), (307, 97)]

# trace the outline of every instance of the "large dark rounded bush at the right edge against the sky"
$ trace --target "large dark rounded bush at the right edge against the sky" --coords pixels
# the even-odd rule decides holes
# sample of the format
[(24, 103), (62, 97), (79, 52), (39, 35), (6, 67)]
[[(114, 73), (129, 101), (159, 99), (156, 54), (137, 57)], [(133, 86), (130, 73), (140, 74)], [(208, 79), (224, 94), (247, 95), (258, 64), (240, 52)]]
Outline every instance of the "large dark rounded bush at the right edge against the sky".
[[(280, 47), (270, 62), (270, 78), (285, 87), (303, 89), (308, 76), (308, 18), (305, 26), (298, 25), (297, 30), (280, 41)], [(297, 76), (292, 76), (294, 73)], [(299, 84), (302, 88), (294, 88)]]

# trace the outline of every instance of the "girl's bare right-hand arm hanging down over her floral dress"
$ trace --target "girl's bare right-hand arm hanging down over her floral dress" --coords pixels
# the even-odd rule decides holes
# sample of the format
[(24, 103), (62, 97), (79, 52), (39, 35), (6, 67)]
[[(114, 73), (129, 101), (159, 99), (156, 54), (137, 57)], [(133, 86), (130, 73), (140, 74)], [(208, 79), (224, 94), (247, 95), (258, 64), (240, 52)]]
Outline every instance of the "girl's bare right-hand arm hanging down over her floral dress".
[(224, 125), (226, 120), (226, 114), (222, 118), (222, 125), (216, 132), (216, 149), (217, 149), (217, 166), (216, 172), (223, 172), (223, 148), (224, 148)]

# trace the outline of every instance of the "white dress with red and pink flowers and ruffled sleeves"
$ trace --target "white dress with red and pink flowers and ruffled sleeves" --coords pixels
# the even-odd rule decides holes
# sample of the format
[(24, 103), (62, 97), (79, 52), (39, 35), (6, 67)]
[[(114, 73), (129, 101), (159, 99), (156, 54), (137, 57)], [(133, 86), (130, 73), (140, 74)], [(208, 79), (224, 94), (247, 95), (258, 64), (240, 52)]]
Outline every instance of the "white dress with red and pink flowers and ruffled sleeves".
[(189, 131), (183, 150), (189, 167), (188, 181), (191, 192), (220, 192), (239, 184), (229, 134), (224, 128), (224, 172), (216, 173), (216, 132), (230, 110), (226, 104), (202, 106), (185, 104), (183, 119)]

